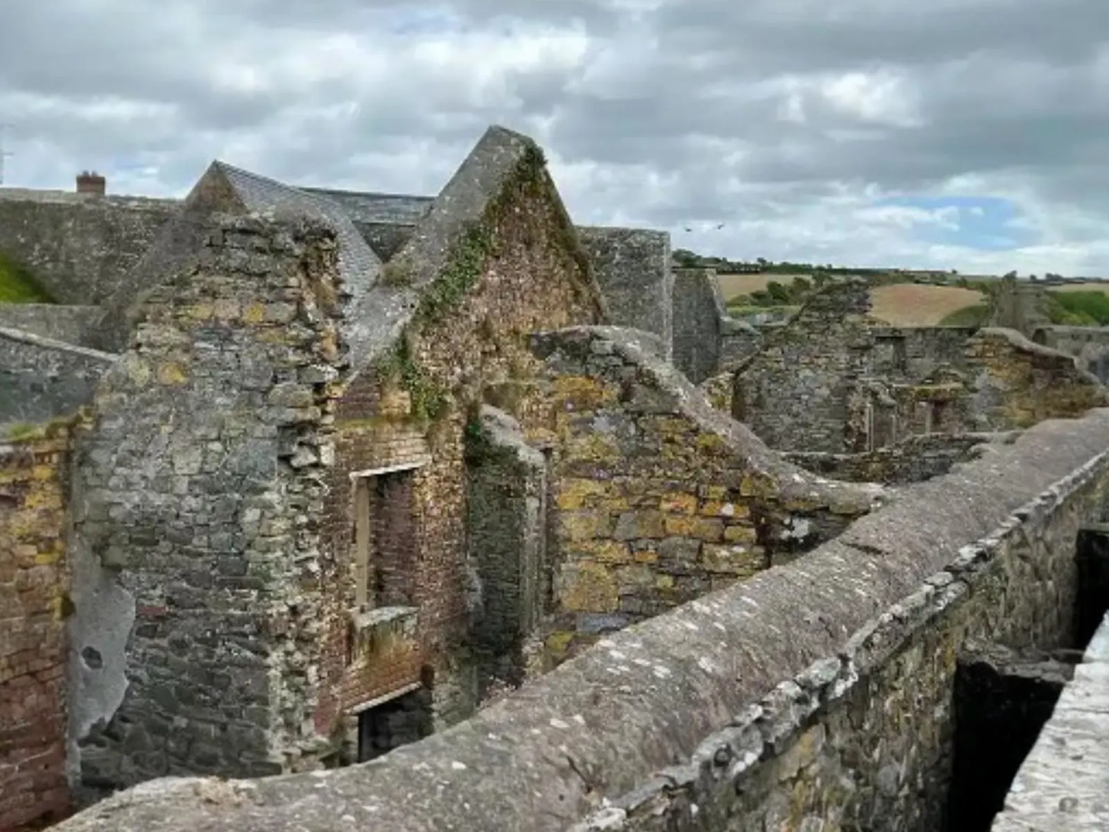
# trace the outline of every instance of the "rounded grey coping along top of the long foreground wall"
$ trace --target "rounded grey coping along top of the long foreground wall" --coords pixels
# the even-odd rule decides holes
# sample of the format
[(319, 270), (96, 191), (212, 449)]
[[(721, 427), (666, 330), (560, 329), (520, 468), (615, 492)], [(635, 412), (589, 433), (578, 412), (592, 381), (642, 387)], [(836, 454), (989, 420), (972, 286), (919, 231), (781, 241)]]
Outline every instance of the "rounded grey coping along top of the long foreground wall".
[(699, 748), (735, 714), (764, 709), (770, 694), (788, 710), (802, 683), (852, 683), (844, 655), (871, 649), (883, 620), (919, 606), (922, 587), (959, 582), (998, 535), (1019, 534), (1077, 484), (1105, 476), (1107, 447), (1107, 409), (1040, 423), (905, 488), (805, 558), (615, 633), (373, 762), (255, 781), (151, 781), (55, 829), (546, 832), (590, 814), (597, 823), (579, 829), (604, 829), (623, 811), (609, 801), (689, 777)]

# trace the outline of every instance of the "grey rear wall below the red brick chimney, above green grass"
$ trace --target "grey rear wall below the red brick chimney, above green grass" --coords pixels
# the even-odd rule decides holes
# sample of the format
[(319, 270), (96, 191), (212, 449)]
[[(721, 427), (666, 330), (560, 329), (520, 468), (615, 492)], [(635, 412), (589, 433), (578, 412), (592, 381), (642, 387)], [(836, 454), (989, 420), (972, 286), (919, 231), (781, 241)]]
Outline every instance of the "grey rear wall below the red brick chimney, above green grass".
[(113, 295), (176, 211), (176, 200), (0, 189), (0, 251), (63, 304)]

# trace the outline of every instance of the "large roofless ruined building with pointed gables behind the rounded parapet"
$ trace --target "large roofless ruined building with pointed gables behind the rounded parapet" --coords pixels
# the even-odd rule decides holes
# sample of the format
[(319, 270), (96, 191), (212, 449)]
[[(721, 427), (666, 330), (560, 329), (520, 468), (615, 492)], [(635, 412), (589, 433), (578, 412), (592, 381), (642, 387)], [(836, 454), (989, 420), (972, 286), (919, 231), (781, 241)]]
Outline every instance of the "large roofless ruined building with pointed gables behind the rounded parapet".
[(0, 506), (69, 656), (42, 804), (377, 757), (871, 508), (699, 404), (669, 313), (610, 311), (621, 274), (669, 304), (665, 235), (579, 234), (525, 136), (488, 131), (391, 255), (218, 162), (179, 207), (96, 290), (99, 348), (4, 331), (65, 357)]

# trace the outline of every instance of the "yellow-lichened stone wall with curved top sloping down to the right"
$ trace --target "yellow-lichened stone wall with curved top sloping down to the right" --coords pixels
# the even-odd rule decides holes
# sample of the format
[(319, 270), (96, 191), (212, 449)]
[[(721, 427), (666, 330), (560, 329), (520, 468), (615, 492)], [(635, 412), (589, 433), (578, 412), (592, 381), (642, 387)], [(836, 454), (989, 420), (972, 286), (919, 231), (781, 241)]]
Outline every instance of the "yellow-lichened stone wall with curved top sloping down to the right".
[(875, 489), (782, 463), (635, 331), (536, 336), (550, 374), (553, 661), (813, 548)]

